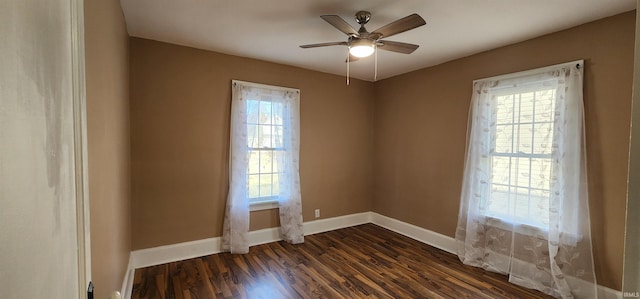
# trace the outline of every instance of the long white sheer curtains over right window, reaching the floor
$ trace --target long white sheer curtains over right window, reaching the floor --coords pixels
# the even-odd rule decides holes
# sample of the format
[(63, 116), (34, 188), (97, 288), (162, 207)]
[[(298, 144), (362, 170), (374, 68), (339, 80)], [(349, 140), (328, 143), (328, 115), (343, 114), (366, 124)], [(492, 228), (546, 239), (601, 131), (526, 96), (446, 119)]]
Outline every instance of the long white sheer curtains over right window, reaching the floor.
[(582, 67), (474, 82), (456, 230), (464, 264), (558, 298), (597, 294)]

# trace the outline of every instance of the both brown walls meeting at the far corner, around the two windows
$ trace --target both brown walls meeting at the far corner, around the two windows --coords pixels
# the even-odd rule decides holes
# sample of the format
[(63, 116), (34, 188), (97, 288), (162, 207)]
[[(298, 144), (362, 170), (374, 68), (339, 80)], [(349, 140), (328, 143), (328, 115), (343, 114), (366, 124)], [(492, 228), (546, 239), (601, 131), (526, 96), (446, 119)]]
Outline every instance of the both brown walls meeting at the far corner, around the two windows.
[[(599, 283), (621, 289), (634, 12), (377, 83), (131, 39), (133, 249), (220, 236), (230, 81), (301, 89), (303, 217), (373, 210), (453, 236), (474, 79), (584, 59)], [(277, 226), (275, 210), (251, 229)]]

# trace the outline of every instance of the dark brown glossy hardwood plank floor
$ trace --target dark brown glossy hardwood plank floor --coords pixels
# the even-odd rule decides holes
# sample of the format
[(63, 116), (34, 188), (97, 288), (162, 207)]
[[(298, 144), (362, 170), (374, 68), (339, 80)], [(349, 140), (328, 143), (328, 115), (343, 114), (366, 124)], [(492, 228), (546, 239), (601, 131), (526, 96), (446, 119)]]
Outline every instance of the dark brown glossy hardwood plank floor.
[(137, 269), (142, 298), (552, 298), (374, 224)]

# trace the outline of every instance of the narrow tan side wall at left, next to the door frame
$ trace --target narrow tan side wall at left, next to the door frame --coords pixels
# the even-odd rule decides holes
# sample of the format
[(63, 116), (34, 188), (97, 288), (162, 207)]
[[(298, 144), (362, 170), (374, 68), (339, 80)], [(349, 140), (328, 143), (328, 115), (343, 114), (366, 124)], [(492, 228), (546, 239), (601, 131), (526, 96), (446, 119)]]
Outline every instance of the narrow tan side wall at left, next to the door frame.
[(120, 1), (85, 1), (92, 279), (122, 287), (131, 250), (129, 37)]

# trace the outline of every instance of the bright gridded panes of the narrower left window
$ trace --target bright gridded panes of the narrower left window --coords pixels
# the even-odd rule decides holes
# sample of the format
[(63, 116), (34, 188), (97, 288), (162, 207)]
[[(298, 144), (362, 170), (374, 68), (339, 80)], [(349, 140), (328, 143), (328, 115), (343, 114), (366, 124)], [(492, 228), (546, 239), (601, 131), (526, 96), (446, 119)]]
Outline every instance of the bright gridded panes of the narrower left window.
[(284, 107), (273, 97), (247, 101), (247, 194), (250, 202), (274, 200), (284, 176)]

